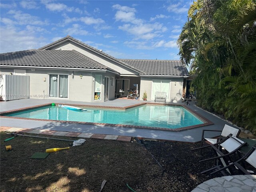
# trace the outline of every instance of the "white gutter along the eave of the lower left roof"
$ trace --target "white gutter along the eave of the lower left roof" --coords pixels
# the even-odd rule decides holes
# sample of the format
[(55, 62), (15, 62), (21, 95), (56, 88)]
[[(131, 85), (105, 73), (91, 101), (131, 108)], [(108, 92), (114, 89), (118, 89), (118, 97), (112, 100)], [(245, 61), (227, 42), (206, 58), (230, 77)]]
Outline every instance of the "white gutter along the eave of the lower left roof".
[(69, 67), (39, 67), (39, 66), (16, 66), (16, 65), (0, 65), (0, 67), (6, 67), (6, 68), (30, 68), (30, 69), (61, 69), (61, 70), (82, 70), (82, 71), (97, 71), (97, 72), (112, 72), (114, 74), (118, 74), (116, 72), (107, 70), (107, 69), (86, 69), (86, 68), (69, 68)]

